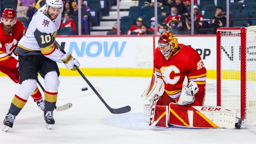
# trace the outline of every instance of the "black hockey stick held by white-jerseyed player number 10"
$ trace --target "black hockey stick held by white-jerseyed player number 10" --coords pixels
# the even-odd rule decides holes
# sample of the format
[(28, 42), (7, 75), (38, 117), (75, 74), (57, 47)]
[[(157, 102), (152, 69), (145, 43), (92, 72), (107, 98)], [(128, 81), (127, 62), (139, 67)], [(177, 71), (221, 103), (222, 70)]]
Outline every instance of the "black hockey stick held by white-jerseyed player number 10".
[[(61, 48), (61, 46), (58, 44), (58, 42), (54, 42), (54, 44), (56, 44), (56, 46), (58, 47), (58, 49), (66, 54), (66, 52)], [(86, 83), (92, 88), (92, 90), (95, 92), (95, 94), (98, 96), (98, 98), (101, 100), (101, 102), (103, 102), (103, 104), (108, 108), (108, 110), (112, 113), (112, 114), (123, 114), (123, 113), (127, 113), (131, 111), (131, 107), (128, 106), (124, 106), (121, 108), (117, 108), (117, 109), (113, 109), (111, 108), (104, 100), (103, 98), (99, 95), (99, 93), (97, 92), (97, 90), (93, 87), (93, 85), (89, 82), (89, 80), (83, 75), (83, 73), (81, 72), (81, 70), (78, 68), (78, 66), (74, 65), (75, 69), (78, 71), (78, 73), (83, 77), (83, 79), (86, 81)]]

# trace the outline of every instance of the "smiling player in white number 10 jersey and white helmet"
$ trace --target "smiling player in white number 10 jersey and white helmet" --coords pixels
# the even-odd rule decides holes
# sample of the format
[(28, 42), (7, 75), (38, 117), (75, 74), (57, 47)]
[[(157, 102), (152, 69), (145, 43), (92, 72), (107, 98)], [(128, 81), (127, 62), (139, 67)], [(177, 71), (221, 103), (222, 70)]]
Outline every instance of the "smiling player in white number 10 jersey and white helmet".
[(5, 117), (4, 131), (13, 127), (15, 117), (35, 90), (37, 73), (45, 80), (46, 128), (51, 129), (51, 125), (55, 124), (53, 110), (59, 87), (59, 69), (56, 62), (61, 60), (71, 70), (75, 70), (74, 65), (80, 66), (69, 52), (63, 54), (53, 45), (60, 26), (62, 10), (62, 0), (46, 0), (46, 5), (34, 14), (26, 35), (19, 41), (15, 53), (19, 54), (21, 84)]

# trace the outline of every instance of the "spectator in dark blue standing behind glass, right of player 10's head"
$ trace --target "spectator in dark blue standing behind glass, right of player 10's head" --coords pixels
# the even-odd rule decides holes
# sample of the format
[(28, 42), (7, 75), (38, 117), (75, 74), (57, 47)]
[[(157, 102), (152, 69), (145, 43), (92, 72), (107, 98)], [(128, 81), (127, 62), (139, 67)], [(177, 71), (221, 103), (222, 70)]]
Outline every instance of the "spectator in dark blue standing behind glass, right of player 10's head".
[[(78, 16), (78, 6), (74, 10), (74, 16)], [(89, 35), (89, 18), (91, 17), (91, 10), (85, 5), (83, 0), (81, 0), (81, 22), (84, 26), (84, 35)]]

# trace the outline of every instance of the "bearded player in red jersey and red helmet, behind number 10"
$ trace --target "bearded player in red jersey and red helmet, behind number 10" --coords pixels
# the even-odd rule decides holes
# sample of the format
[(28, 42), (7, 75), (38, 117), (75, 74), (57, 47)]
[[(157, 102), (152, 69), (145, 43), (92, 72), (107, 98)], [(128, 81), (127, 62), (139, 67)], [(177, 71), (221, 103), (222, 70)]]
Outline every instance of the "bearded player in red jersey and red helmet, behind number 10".
[[(15, 83), (19, 81), (18, 60), (12, 57), (19, 40), (23, 36), (24, 25), (16, 19), (14, 9), (6, 8), (0, 22), (0, 71)], [(38, 88), (31, 95), (42, 110), (45, 109), (44, 100)]]

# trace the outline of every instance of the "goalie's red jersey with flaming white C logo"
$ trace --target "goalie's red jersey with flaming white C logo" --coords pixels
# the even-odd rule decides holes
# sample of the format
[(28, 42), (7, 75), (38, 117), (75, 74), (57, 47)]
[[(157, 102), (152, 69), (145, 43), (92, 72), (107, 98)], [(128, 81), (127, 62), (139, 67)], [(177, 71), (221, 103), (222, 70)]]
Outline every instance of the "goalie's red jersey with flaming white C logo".
[(206, 69), (200, 55), (193, 48), (184, 44), (179, 44), (180, 50), (173, 54), (167, 61), (158, 50), (154, 51), (154, 68), (158, 78), (164, 81), (165, 92), (176, 99), (181, 95), (182, 84), (185, 76), (189, 81), (197, 83), (199, 91), (196, 99), (203, 105), (206, 84)]

